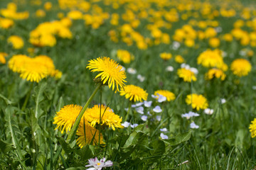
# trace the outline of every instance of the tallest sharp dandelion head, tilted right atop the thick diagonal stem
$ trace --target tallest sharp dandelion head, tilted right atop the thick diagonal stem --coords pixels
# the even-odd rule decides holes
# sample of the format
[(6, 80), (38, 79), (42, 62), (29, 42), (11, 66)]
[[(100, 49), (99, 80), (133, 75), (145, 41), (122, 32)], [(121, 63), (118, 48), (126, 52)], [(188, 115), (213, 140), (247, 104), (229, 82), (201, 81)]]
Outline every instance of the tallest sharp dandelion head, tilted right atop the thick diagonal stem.
[(112, 90), (114, 90), (114, 84), (117, 86), (117, 91), (119, 91), (119, 87), (123, 88), (124, 79), (126, 78), (126, 74), (121, 65), (117, 64), (114, 60), (109, 57), (99, 57), (96, 60), (90, 60), (90, 63), (87, 65), (88, 69), (91, 69), (91, 72), (100, 72), (97, 74), (97, 77), (100, 77), (102, 84), (106, 84), (110, 87), (112, 86)]

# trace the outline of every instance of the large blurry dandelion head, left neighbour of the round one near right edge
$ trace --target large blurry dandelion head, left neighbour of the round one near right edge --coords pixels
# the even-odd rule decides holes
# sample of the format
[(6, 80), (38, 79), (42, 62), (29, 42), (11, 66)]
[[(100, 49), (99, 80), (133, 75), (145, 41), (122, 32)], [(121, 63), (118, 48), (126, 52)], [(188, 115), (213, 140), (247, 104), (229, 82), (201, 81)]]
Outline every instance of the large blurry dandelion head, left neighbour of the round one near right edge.
[(197, 58), (198, 64), (203, 67), (218, 67), (223, 64), (223, 57), (220, 55), (219, 50), (206, 50), (202, 52)]

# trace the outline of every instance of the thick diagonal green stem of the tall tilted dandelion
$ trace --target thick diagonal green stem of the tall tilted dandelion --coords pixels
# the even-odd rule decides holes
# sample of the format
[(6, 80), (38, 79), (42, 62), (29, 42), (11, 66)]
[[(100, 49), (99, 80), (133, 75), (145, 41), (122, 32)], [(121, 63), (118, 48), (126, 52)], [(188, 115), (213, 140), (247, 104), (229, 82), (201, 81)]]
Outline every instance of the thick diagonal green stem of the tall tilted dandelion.
[(100, 89), (101, 86), (102, 86), (102, 84), (98, 84), (97, 85), (95, 91), (93, 91), (92, 95), (90, 96), (90, 98), (85, 103), (85, 106), (82, 107), (82, 111), (80, 111), (80, 113), (78, 115), (78, 118), (75, 120), (75, 123), (74, 123), (73, 127), (71, 128), (70, 132), (68, 133), (68, 137), (67, 137), (67, 142), (68, 143), (71, 142), (71, 139), (73, 138), (73, 135), (75, 135), (75, 132), (78, 129), (78, 125), (80, 123), (82, 115), (85, 113), (85, 110), (87, 109), (87, 107), (89, 106), (90, 102), (92, 101), (92, 98), (95, 96), (95, 94), (97, 93), (97, 91)]

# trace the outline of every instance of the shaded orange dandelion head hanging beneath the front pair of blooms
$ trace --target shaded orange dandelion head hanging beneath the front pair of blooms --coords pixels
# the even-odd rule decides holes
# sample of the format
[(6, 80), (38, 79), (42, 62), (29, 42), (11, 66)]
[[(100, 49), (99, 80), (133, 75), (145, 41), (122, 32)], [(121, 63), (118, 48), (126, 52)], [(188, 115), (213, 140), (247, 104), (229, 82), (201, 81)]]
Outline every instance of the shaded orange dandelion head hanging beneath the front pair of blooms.
[[(84, 147), (85, 145), (97, 145), (99, 143), (99, 130), (93, 128), (87, 122), (87, 120), (80, 121), (80, 124), (78, 126), (78, 132), (76, 133), (76, 135), (79, 136), (77, 140), (77, 145), (80, 148)], [(103, 142), (102, 134), (100, 134), (100, 144), (105, 144), (105, 142)]]

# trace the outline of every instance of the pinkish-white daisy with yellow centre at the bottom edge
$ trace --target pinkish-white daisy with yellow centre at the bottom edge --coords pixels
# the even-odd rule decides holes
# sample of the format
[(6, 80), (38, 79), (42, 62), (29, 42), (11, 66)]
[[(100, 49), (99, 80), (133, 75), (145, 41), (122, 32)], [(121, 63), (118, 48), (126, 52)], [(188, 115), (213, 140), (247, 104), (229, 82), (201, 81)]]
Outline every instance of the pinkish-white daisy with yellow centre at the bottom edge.
[(92, 166), (92, 168), (87, 170), (101, 170), (104, 167), (110, 167), (113, 165), (112, 161), (107, 161), (107, 162), (105, 161), (106, 161), (105, 157), (103, 157), (103, 159), (100, 159), (100, 161), (99, 159), (97, 159), (97, 157), (88, 159), (89, 164), (87, 164), (85, 167)]

